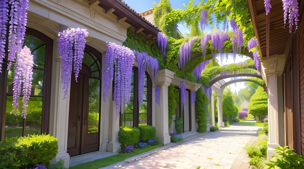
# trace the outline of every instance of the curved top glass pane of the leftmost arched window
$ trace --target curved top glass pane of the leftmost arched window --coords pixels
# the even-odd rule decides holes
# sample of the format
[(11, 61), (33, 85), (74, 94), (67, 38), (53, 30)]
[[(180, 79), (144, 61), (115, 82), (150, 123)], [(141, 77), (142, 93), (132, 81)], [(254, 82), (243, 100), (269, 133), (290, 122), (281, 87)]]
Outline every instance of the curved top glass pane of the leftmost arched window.
[(23, 46), (30, 48), (34, 55), (34, 63), (41, 68), (45, 66), (46, 43), (30, 34), (26, 34)]

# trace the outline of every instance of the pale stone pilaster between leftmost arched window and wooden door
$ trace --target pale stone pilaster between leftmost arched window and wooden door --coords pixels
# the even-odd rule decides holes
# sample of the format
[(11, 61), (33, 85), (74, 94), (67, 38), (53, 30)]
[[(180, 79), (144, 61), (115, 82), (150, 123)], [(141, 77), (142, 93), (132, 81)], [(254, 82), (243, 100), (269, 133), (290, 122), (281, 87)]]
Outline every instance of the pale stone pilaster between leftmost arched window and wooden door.
[[(52, 88), (51, 93), (51, 108), (50, 108), (50, 134), (58, 139), (58, 153), (51, 162), (63, 159), (65, 166), (69, 167), (68, 150), (68, 111), (69, 97), (63, 99), (63, 90), (61, 83), (61, 68), (60, 57), (57, 57), (53, 62), (52, 68)], [(69, 90), (68, 90), (69, 96)]]

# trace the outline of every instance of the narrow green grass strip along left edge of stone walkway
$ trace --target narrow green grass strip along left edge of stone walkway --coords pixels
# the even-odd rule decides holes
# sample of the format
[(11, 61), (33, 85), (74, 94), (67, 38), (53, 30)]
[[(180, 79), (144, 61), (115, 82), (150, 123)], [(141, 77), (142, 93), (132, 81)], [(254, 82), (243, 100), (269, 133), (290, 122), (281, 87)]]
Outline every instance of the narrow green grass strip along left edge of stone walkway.
[(109, 157), (101, 158), (95, 161), (87, 162), (84, 164), (80, 164), (74, 167), (71, 167), (70, 169), (98, 169), (101, 167), (105, 167), (114, 163), (117, 163), (119, 161), (122, 161), (126, 158), (141, 154), (143, 152), (149, 152), (150, 150), (162, 147), (163, 145), (155, 145), (155, 146), (149, 146), (142, 149), (134, 149), (134, 152), (130, 153), (119, 153), (117, 155), (112, 155)]

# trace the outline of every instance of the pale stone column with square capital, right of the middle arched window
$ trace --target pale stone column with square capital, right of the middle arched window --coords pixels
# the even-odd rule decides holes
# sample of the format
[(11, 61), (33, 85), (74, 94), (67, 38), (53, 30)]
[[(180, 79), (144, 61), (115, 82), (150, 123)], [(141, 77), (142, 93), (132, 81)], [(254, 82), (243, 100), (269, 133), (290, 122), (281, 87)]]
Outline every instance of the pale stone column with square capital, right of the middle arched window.
[(156, 135), (160, 136), (164, 145), (169, 144), (169, 116), (168, 116), (168, 86), (172, 83), (174, 72), (168, 69), (158, 71), (155, 85), (159, 86), (159, 106), (155, 104)]

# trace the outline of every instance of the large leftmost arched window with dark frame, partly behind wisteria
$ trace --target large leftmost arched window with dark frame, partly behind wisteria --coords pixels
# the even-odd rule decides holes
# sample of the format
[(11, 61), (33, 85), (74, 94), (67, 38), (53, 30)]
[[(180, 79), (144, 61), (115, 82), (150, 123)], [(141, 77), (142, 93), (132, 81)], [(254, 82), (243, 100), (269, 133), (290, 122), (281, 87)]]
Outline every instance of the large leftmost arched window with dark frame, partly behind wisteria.
[(19, 109), (13, 110), (12, 107), (14, 68), (11, 67), (6, 71), (3, 76), (5, 80), (0, 81), (0, 85), (5, 86), (6, 92), (0, 93), (0, 96), (4, 94), (6, 98), (3, 103), (5, 112), (1, 114), (5, 113), (4, 136), (7, 137), (49, 132), (53, 40), (38, 31), (27, 28), (23, 45), (30, 48), (34, 55), (32, 93), (28, 101), (27, 117), (24, 120), (21, 117), (22, 97), (19, 98)]

